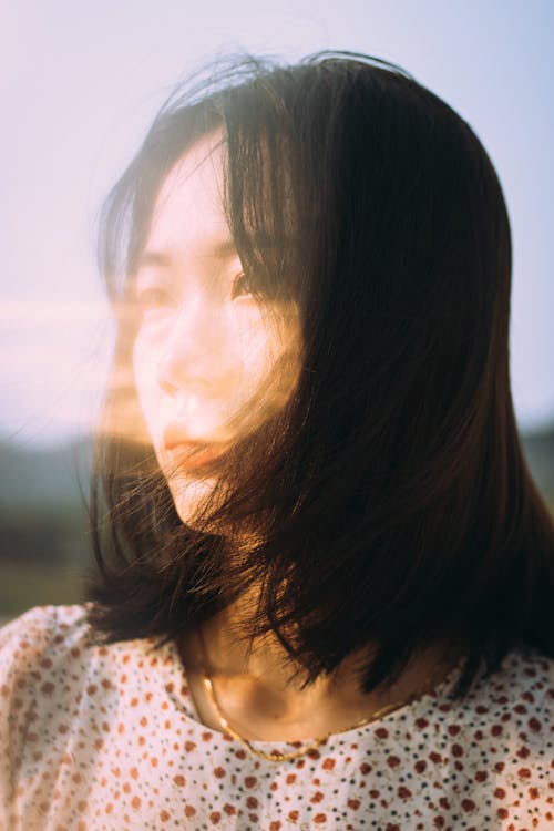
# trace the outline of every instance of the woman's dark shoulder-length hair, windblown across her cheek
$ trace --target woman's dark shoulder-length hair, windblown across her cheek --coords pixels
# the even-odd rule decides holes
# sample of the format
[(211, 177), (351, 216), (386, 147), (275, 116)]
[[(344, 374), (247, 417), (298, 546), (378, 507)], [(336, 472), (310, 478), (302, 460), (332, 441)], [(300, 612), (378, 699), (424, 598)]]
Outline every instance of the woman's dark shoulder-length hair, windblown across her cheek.
[(246, 635), (275, 632), (307, 683), (363, 647), (368, 691), (437, 643), (465, 656), (456, 695), (512, 648), (554, 656), (552, 522), (510, 391), (510, 226), (480, 141), (365, 55), (246, 59), (179, 86), (104, 208), (116, 306), (161, 184), (216, 129), (240, 259), (260, 296), (300, 309), (300, 378), (233, 458), (212, 517), (257, 529), (233, 544), (184, 525), (152, 450), (130, 441), (134, 324), (120, 322), (96, 449), (98, 636), (165, 643), (255, 583)]

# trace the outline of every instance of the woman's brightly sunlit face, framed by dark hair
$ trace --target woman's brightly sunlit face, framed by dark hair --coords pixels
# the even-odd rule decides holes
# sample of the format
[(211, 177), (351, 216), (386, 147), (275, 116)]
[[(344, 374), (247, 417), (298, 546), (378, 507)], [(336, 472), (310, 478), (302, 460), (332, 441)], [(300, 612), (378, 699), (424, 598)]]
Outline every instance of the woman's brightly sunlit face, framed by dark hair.
[[(296, 304), (250, 294), (223, 208), (219, 141), (198, 141), (167, 176), (134, 275), (134, 380), (187, 524), (217, 481), (217, 459), (290, 398), (301, 349)], [(247, 407), (260, 394), (263, 410)]]

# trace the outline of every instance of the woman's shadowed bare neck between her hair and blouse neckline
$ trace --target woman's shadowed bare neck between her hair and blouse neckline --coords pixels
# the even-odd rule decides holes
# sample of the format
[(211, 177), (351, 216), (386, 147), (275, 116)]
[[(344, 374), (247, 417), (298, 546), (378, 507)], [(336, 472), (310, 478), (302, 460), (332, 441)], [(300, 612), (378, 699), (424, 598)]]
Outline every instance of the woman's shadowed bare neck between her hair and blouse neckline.
[(437, 686), (458, 659), (444, 646), (427, 649), (390, 690), (367, 694), (360, 687), (363, 656), (357, 655), (302, 689), (302, 673), (294, 677), (295, 667), (277, 637), (267, 635), (252, 646), (240, 637), (247, 608), (252, 605), (243, 602), (217, 614), (184, 638), (181, 652), (204, 724), (222, 729), (220, 714), (203, 684), (207, 675), (220, 712), (248, 739), (296, 741), (348, 730), (377, 710), (401, 706)]

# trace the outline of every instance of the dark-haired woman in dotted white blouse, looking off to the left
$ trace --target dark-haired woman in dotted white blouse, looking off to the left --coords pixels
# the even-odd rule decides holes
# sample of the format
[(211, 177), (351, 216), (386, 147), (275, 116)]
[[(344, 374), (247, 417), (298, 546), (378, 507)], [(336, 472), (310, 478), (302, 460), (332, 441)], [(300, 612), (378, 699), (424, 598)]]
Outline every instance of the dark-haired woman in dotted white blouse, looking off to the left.
[(103, 215), (99, 575), (2, 634), (7, 829), (554, 821), (510, 228), (398, 68), (179, 89)]

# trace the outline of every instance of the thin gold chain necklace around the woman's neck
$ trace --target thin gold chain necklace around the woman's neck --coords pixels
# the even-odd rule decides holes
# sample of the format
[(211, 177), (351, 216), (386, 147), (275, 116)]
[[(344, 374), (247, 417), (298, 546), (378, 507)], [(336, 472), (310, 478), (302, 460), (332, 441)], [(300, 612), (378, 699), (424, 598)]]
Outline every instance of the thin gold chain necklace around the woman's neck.
[[(204, 648), (204, 638), (201, 634), (198, 635), (198, 639), (201, 643), (202, 656), (203, 656), (202, 681), (208, 695), (208, 698), (216, 711), (219, 727), (228, 736), (239, 741), (248, 750), (249, 753), (252, 753), (253, 756), (257, 756), (259, 759), (265, 759), (266, 761), (273, 761), (273, 762), (293, 761), (294, 759), (299, 759), (301, 756), (306, 756), (306, 753), (309, 753), (311, 750), (317, 750), (331, 736), (336, 735), (334, 731), (328, 732), (325, 736), (321, 736), (318, 739), (314, 739), (314, 741), (310, 741), (307, 745), (304, 745), (302, 747), (297, 748), (296, 750), (291, 750), (288, 753), (285, 753), (281, 750), (271, 750), (270, 752), (266, 752), (265, 750), (260, 750), (259, 748), (254, 747), (254, 745), (252, 743), (249, 739), (246, 739), (244, 736), (240, 736), (240, 733), (237, 732), (237, 730), (235, 730), (235, 728), (232, 727), (232, 725), (229, 725), (228, 720), (225, 718), (224, 714), (222, 712), (222, 708), (219, 707), (219, 704), (215, 695), (212, 678), (209, 677), (206, 670), (206, 652)], [(392, 712), (392, 710), (398, 710), (400, 709), (400, 707), (404, 707), (411, 704), (412, 701), (414, 701), (417, 698), (420, 698), (425, 693), (430, 693), (431, 689), (433, 689), (438, 685), (439, 677), (440, 677), (439, 674), (435, 673), (433, 676), (430, 676), (425, 679), (424, 687), (422, 687), (417, 693), (413, 693), (411, 696), (408, 696), (408, 698), (401, 701), (394, 701), (392, 704), (388, 704), (384, 707), (381, 707), (380, 709), (376, 710), (373, 714), (371, 714), (371, 716), (368, 716), (367, 718), (362, 718), (361, 721), (357, 721), (351, 727), (348, 727), (346, 730), (340, 730), (339, 732), (348, 732), (349, 730), (356, 730), (359, 727), (366, 727), (366, 725), (370, 725), (372, 721), (377, 721), (379, 718), (382, 718), (389, 712)]]

